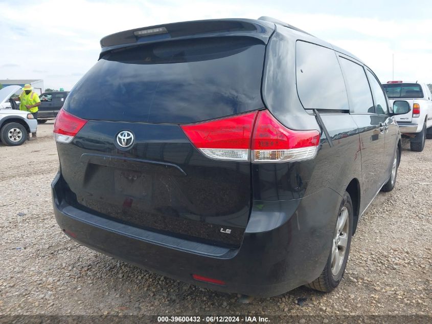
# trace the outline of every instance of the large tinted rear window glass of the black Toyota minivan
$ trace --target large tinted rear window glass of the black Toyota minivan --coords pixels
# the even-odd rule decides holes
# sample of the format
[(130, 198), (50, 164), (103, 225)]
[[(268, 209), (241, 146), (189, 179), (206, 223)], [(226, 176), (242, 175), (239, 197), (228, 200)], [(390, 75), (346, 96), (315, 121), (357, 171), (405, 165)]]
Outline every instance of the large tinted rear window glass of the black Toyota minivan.
[(170, 41), (103, 56), (67, 96), (86, 118), (189, 123), (263, 107), (264, 44), (255, 38)]

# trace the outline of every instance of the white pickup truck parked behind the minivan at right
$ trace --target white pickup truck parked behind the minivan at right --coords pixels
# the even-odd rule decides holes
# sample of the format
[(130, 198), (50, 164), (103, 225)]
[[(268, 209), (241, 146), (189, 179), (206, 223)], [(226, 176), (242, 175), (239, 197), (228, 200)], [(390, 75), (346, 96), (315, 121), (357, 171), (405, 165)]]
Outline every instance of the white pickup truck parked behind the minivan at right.
[(410, 138), (411, 150), (421, 152), (426, 138), (432, 139), (432, 94), (426, 83), (389, 81), (383, 84), (391, 106), (406, 101), (411, 110), (395, 116), (400, 132)]

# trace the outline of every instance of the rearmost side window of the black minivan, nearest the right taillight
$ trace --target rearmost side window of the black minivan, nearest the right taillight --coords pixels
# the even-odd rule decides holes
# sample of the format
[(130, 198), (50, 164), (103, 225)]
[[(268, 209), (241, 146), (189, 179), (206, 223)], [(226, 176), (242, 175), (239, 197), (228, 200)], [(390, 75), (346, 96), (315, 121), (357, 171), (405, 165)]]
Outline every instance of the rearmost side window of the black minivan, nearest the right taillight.
[(297, 92), (305, 109), (349, 109), (344, 78), (333, 50), (297, 41), (295, 65)]

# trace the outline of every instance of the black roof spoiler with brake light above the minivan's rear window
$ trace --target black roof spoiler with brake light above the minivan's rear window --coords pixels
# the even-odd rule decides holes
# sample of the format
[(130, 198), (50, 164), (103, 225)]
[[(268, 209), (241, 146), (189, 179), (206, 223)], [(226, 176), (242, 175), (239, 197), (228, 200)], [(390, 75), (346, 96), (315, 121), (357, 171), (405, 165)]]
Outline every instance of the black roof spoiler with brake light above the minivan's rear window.
[(253, 19), (209, 19), (185, 21), (126, 30), (111, 34), (101, 39), (101, 54), (113, 49), (184, 38), (201, 38), (217, 36), (248, 36), (260, 39), (267, 44), (268, 38), (275, 30), (269, 21)]

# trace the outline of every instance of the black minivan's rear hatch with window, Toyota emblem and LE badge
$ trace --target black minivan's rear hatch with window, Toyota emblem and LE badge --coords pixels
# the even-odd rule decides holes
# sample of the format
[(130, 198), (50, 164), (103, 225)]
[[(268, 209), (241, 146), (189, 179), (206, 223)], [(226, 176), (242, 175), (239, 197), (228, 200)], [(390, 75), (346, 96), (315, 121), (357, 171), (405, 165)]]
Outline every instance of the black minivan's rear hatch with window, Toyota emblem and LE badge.
[[(264, 51), (256, 38), (213, 37), (105, 54), (64, 105), (88, 120), (70, 144), (57, 145), (69, 202), (133, 226), (239, 246), (251, 165), (204, 156), (180, 125), (262, 108)], [(122, 147), (129, 135), (133, 143)]]

